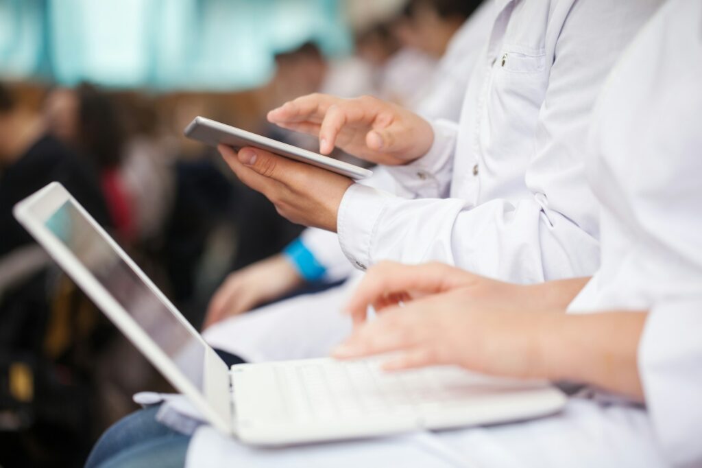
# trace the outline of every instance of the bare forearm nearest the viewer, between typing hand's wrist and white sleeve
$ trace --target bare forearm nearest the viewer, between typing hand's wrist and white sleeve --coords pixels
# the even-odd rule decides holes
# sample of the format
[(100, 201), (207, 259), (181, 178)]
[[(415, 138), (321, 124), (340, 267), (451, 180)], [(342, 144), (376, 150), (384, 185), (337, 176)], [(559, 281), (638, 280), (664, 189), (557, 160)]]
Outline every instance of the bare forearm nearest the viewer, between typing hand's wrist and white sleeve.
[(642, 401), (637, 350), (647, 316), (543, 314), (531, 333), (531, 377), (582, 382)]

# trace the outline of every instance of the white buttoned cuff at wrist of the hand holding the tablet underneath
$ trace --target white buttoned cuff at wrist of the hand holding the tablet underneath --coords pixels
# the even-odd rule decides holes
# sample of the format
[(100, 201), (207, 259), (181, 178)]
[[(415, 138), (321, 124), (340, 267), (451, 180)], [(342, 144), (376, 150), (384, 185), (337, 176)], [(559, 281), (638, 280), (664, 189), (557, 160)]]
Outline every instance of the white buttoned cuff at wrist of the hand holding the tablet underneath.
[(380, 216), (393, 195), (355, 183), (339, 206), (336, 230), (342, 252), (353, 266), (366, 270), (371, 266), (371, 242)]

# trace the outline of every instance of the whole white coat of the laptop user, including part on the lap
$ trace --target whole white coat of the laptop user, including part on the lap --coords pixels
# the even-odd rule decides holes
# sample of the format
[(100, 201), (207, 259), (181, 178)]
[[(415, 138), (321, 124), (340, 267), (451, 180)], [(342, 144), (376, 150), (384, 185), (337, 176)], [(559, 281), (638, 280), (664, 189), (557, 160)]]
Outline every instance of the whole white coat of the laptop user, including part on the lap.
[(702, 2), (670, 0), (625, 52), (597, 105), (589, 180), (602, 267), (571, 313), (644, 309), (647, 410), (571, 398), (496, 427), (262, 450), (209, 427), (188, 466), (664, 467), (702, 464)]

